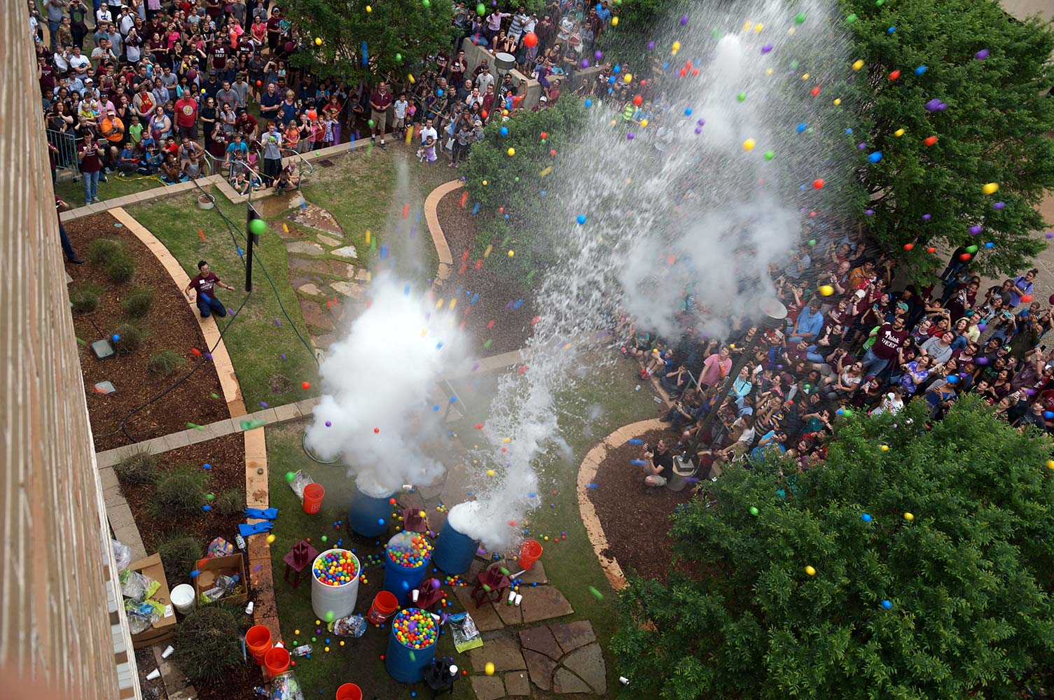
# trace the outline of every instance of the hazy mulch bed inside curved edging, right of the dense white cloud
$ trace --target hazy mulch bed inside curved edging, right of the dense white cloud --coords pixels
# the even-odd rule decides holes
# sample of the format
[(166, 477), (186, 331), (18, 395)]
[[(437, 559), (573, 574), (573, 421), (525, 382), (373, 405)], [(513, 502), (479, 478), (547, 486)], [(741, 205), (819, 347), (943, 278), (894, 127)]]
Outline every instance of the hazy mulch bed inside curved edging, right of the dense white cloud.
[[(454, 259), (453, 272), (436, 295), (449, 298), (461, 289), (461, 293), (457, 294), (457, 308), (461, 309), (462, 318), (465, 320), (464, 328), (482, 354), (489, 356), (519, 350), (530, 337), (530, 322), (538, 313), (533, 296), (525, 293), (515, 280), (507, 279), (489, 270), (486, 260), (483, 267), (476, 270), (475, 260), (470, 257), (465, 273), (458, 274), (462, 255), (465, 251), (469, 251), (471, 256), (473, 241), (480, 232), (472, 210), (463, 209), (458, 205), (463, 192), (463, 189), (450, 192), (440, 200), (435, 210)], [(492, 255), (500, 252), (502, 251), (495, 251)], [(465, 295), (466, 291), (471, 295), (479, 293), (479, 300), (469, 305), (470, 296)], [(505, 308), (510, 300), (515, 302), (521, 298), (524, 302), (519, 309)], [(466, 309), (471, 309), (468, 315), (464, 315)], [(491, 322), (493, 326), (487, 328)], [(488, 339), (493, 342), (484, 350), (483, 344)]]

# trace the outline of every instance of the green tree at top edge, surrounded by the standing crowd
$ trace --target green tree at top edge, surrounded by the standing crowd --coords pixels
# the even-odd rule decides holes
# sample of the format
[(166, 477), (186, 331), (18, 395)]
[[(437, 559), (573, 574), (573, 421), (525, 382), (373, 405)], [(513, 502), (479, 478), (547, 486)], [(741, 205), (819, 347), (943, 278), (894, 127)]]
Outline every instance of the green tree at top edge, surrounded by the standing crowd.
[(451, 0), (281, 3), (282, 15), (300, 27), (304, 42), (292, 63), (352, 85), (359, 80), (372, 82), (378, 75), (408, 80), (426, 58), (449, 48), (457, 36), (450, 23), (452, 7)]

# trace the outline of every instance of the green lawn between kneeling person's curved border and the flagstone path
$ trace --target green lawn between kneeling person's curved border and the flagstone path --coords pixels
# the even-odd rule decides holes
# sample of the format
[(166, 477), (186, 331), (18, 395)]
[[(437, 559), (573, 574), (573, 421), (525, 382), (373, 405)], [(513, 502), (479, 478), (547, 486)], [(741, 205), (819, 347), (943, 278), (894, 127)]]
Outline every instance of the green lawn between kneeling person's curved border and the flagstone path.
[[(195, 275), (198, 260), (208, 260), (220, 279), (236, 288), (233, 292), (222, 292), (219, 298), (229, 309), (237, 309), (245, 298), (245, 268), (238, 247), (245, 250), (246, 207), (232, 205), (223, 195), (215, 194), (217, 209), (234, 222), (233, 232), (216, 210), (198, 209), (196, 191), (130, 207), (128, 211), (164, 244), (187, 274)], [(204, 234), (204, 241), (198, 236), (199, 229)], [(296, 295), (289, 286), (286, 247), (278, 236), (265, 233), (254, 254), (258, 257), (253, 266), (253, 292), (223, 335), (250, 412), (257, 410), (260, 402), (277, 406), (311, 395), (314, 388), (305, 391), (300, 384), (310, 382), (314, 385), (318, 376), (312, 353), (293, 330), (295, 325), (309, 341)], [(267, 268), (274, 289), (259, 261)], [(292, 325), (282, 313), (278, 299)], [(271, 390), (271, 385), (280, 382), (280, 377), (289, 380), (291, 388), (276, 393)]]

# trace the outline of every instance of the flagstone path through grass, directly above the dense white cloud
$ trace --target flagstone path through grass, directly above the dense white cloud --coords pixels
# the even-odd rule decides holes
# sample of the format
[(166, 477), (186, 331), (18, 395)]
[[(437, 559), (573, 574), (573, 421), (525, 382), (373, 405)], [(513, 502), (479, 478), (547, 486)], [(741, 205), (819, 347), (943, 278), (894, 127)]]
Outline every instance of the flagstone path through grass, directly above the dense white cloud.
[(366, 308), (370, 273), (358, 260), (344, 229), (327, 210), (290, 195), (296, 207), (285, 216), (278, 235), (289, 255), (290, 284), (315, 350), (326, 350), (335, 331)]

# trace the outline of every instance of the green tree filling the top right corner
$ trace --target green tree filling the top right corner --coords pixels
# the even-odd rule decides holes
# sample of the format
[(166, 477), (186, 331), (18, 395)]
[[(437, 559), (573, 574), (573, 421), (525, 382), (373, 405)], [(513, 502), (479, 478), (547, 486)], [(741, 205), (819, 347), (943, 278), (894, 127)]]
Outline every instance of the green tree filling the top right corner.
[[(861, 108), (857, 131), (868, 135), (859, 138), (867, 144), (859, 173), (874, 198), (864, 205), (874, 210), (863, 217), (871, 233), (919, 272), (935, 264), (925, 249), (941, 244), (978, 246), (974, 264), (991, 275), (1031, 267), (1045, 247), (1032, 235), (1045, 226), (1036, 208), (1054, 188), (1054, 142), (1045, 135), (1054, 129), (1051, 25), (1019, 22), (993, 0), (842, 5), (850, 62), (865, 66), (844, 73)], [(933, 110), (932, 100), (948, 106)], [(937, 142), (928, 147), (931, 136)], [(874, 151), (882, 159), (871, 164), (863, 156)], [(983, 194), (988, 182), (998, 193)], [(971, 235), (976, 226), (983, 231)], [(905, 244), (915, 247), (906, 255)]]

